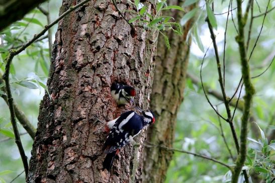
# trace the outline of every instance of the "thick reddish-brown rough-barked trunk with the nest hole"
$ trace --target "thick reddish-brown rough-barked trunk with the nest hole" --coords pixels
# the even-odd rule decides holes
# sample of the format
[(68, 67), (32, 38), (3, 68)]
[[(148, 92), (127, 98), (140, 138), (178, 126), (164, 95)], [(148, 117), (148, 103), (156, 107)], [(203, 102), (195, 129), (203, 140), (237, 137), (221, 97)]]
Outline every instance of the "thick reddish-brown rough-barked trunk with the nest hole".
[[(63, 0), (60, 13), (75, 4)], [(146, 4), (152, 14), (155, 6)], [(132, 18), (127, 1), (118, 8)], [(133, 85), (136, 102), (148, 108), (156, 36), (131, 29), (111, 1), (91, 1), (59, 22), (47, 83), (51, 100), (45, 95), (40, 105), (29, 182), (129, 182), (131, 175), (141, 180), (142, 145), (135, 153), (131, 144), (125, 146), (111, 173), (102, 170), (101, 149), (104, 123), (130, 109), (115, 104), (113, 81)]]

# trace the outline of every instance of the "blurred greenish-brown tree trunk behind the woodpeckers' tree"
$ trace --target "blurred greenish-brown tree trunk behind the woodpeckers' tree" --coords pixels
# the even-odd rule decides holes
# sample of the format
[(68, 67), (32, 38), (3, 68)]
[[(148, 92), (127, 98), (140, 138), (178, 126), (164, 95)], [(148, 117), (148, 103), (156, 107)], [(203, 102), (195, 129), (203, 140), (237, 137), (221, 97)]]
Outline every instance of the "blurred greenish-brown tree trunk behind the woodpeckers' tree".
[[(169, 1), (172, 5), (180, 5), (181, 1)], [(192, 7), (193, 8), (193, 7)], [(191, 8), (191, 9), (192, 9)], [(169, 12), (168, 16), (178, 21), (183, 13)], [(176, 125), (176, 115), (184, 100), (187, 65), (189, 60), (190, 40), (187, 33), (192, 22), (184, 26), (184, 34), (179, 36), (169, 32), (171, 48), (167, 50), (163, 37), (159, 34), (157, 44), (156, 66), (150, 107), (156, 115), (157, 123), (152, 126), (147, 140), (156, 145), (172, 147)], [(172, 152), (158, 147), (145, 147), (144, 182), (164, 182)]]

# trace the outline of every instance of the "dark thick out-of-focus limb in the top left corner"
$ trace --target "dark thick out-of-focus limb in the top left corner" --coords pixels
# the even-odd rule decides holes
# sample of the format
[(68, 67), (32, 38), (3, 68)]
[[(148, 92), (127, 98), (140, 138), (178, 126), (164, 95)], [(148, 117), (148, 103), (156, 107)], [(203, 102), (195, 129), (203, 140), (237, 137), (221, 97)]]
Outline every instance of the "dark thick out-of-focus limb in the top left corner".
[(0, 31), (46, 0), (0, 0)]

